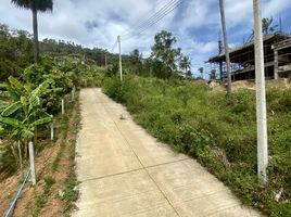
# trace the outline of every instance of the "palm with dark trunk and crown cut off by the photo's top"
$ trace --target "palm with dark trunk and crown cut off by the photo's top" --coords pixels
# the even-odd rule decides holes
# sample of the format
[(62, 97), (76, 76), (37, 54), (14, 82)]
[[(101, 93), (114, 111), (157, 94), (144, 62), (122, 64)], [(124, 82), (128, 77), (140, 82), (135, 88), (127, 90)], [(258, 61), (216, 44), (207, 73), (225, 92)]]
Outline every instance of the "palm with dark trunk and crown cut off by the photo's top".
[(37, 27), (37, 12), (52, 11), (52, 0), (11, 0), (18, 8), (24, 8), (33, 11), (33, 26), (34, 26), (34, 43), (35, 43), (35, 62), (39, 59), (38, 44), (38, 27)]

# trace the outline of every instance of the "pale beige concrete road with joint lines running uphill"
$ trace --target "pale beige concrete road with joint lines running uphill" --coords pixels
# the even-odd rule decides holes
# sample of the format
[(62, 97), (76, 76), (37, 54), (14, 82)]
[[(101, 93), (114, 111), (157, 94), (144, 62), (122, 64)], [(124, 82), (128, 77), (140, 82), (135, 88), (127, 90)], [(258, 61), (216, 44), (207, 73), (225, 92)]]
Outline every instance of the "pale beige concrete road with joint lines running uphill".
[(80, 197), (73, 216), (260, 216), (194, 159), (149, 136), (100, 89), (83, 89), (80, 102)]

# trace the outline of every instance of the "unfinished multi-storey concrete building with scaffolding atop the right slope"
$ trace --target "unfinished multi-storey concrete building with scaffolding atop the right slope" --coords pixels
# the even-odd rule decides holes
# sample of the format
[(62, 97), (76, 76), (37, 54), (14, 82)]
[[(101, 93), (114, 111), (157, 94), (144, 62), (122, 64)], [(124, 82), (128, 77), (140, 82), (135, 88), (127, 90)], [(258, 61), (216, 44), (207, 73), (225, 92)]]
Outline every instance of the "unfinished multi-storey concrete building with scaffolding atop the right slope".
[[(229, 58), (232, 80), (255, 78), (254, 41), (230, 49)], [(264, 62), (266, 79), (291, 78), (291, 38), (282, 33), (264, 36)], [(225, 53), (210, 58), (208, 63), (226, 78)]]

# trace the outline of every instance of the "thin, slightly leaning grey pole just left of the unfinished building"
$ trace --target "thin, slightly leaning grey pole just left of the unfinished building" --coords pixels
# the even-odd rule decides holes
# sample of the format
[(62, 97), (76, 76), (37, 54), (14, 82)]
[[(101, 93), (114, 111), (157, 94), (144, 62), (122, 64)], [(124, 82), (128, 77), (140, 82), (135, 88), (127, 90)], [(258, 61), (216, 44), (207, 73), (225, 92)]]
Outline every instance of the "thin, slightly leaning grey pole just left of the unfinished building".
[(225, 54), (226, 54), (227, 94), (230, 94), (231, 93), (231, 75), (230, 75), (230, 60), (229, 60), (227, 31), (226, 31), (226, 18), (225, 18), (224, 0), (219, 0), (219, 8), (220, 8), (222, 27), (223, 27), (224, 43), (225, 43)]

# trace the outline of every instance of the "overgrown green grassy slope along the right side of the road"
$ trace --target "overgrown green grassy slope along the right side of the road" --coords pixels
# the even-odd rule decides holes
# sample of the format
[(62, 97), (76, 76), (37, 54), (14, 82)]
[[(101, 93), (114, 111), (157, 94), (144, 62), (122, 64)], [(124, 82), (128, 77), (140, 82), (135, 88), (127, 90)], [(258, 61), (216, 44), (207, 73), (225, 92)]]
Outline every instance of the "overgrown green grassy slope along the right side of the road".
[[(155, 78), (106, 78), (104, 92), (175, 150), (195, 157), (244, 204), (268, 216), (291, 216), (291, 92), (267, 90), (268, 184), (256, 174), (255, 92), (231, 97), (204, 85)], [(275, 194), (282, 189), (277, 202)]]

